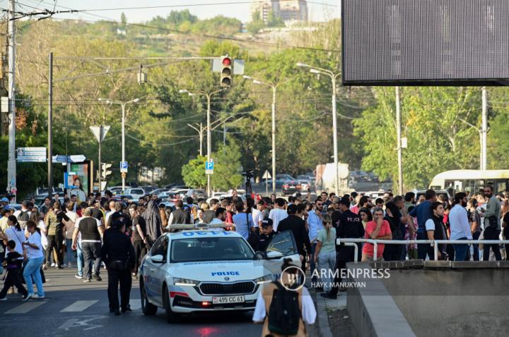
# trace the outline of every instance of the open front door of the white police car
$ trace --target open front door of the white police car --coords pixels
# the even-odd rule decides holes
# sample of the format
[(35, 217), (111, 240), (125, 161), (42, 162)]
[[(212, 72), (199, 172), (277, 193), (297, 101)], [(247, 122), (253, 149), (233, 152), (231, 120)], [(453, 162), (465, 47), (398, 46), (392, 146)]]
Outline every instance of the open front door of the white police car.
[(274, 277), (274, 281), (281, 276), (283, 259), (292, 259), (292, 263), (296, 266), (302, 264), (302, 262), (300, 262), (296, 240), (291, 231), (276, 233), (269, 241), (265, 249), (265, 254), (267, 255), (267, 260), (264, 261), (264, 266), (269, 269)]

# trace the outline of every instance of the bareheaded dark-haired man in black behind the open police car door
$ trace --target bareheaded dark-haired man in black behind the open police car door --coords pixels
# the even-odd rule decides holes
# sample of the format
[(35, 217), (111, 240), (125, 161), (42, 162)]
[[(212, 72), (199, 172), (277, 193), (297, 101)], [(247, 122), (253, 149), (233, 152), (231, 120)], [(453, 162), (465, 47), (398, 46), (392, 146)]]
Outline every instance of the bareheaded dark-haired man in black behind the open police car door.
[[(292, 231), (293, 238), (296, 240), (297, 251), (302, 259), (302, 269), (305, 270), (305, 256), (306, 252), (311, 254), (311, 243), (308, 232), (305, 229), (305, 221), (303, 213), (305, 210), (304, 204), (290, 204), (286, 209), (288, 218), (279, 221), (278, 232)], [(304, 250), (305, 248), (305, 250)]]

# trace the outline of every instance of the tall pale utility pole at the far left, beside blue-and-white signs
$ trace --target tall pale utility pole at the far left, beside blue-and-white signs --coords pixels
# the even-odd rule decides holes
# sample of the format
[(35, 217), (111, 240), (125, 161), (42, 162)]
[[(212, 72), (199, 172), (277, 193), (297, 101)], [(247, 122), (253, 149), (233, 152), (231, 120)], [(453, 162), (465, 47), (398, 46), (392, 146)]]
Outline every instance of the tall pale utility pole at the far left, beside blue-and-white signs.
[(13, 192), (16, 202), (16, 78), (14, 77), (16, 66), (16, 27), (14, 26), (14, 12), (16, 2), (9, 1), (8, 11), (8, 161), (7, 161), (7, 191)]

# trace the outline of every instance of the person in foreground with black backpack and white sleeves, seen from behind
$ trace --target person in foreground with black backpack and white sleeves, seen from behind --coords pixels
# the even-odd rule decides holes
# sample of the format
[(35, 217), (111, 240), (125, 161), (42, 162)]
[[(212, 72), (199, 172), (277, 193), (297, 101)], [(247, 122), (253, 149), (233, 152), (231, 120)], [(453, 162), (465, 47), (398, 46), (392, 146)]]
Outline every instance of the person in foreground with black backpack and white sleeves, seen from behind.
[(308, 289), (296, 283), (299, 268), (291, 259), (283, 260), (281, 271), (279, 281), (260, 290), (252, 320), (263, 323), (262, 337), (306, 337), (305, 323), (314, 324), (317, 316), (315, 305)]

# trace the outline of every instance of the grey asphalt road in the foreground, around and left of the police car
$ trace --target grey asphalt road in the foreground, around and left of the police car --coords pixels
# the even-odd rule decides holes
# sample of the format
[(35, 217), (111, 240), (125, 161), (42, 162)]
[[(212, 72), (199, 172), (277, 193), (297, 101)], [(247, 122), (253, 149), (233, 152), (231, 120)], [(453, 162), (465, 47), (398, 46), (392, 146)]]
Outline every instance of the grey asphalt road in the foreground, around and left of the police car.
[[(21, 295), (7, 295), (0, 302), (2, 336), (163, 336), (179, 337), (260, 336), (262, 326), (253, 324), (246, 314), (197, 314), (168, 324), (163, 310), (154, 317), (141, 312), (139, 288), (133, 280), (132, 312), (115, 317), (107, 301), (107, 274), (103, 281), (83, 283), (74, 278), (76, 269), (45, 271), (46, 300), (21, 301)], [(1, 282), (0, 284), (3, 284)]]

